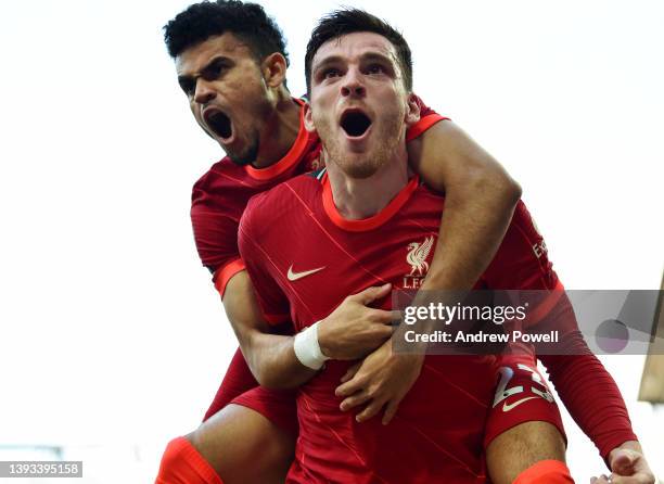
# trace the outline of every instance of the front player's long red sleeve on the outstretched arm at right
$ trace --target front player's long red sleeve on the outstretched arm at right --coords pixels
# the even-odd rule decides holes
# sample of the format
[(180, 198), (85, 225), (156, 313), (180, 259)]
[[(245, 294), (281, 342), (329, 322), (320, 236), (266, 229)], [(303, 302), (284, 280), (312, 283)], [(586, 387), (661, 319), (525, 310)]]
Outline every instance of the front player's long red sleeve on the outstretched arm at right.
[(637, 440), (621, 392), (578, 331), (574, 311), (549, 262), (544, 238), (523, 202), (516, 205), (512, 222), (485, 278), (491, 289), (558, 289), (552, 293), (552, 303), (545, 300), (540, 304), (548, 306), (547, 313), (556, 313), (544, 318), (541, 323), (556, 321), (561, 343), (569, 353), (539, 355), (551, 382), (578, 426), (597, 445), (603, 458), (622, 443)]

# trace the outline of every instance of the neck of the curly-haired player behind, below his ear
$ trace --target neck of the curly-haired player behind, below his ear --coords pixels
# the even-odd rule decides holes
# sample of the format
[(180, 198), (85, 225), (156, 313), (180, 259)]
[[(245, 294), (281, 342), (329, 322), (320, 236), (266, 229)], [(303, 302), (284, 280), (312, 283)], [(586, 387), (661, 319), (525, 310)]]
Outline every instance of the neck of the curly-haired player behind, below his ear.
[(283, 86), (274, 94), (273, 106), (260, 133), (258, 154), (253, 163), (256, 168), (266, 168), (284, 157), (299, 131), (299, 105)]

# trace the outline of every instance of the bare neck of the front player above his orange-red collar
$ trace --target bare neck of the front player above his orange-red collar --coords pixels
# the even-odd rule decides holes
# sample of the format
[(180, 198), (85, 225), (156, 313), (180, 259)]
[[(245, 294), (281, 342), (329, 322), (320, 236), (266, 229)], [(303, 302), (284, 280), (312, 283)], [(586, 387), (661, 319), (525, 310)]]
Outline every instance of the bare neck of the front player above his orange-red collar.
[(330, 161), (328, 178), (334, 205), (349, 220), (361, 220), (381, 212), (408, 184), (409, 169), (406, 147), (368, 178), (352, 178)]

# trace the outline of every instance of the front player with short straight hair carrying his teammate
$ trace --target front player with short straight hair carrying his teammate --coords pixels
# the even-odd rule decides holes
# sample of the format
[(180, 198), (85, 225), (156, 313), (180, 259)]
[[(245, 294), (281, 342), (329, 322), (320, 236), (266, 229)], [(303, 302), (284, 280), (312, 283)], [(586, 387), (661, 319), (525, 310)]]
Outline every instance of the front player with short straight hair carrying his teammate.
[[(305, 358), (310, 364), (311, 359), (320, 360), (321, 355), (332, 355), (324, 351), (322, 342), (320, 348), (308, 342), (320, 342), (320, 323), (316, 320), (335, 307), (346, 291), (385, 282), (404, 289), (398, 285), (403, 283), (405, 262), (398, 247), (431, 237), (442, 205), (432, 192), (418, 187), (417, 178), (408, 181), (404, 137), (406, 127), (417, 123), (419, 107), (407, 88), (411, 77), (408, 62), (403, 62), (408, 59), (407, 44), (390, 26), (375, 18), (366, 24), (366, 18), (365, 12), (335, 12), (323, 18), (307, 50), (311, 107), (305, 122), (321, 137), (328, 173), (298, 177), (257, 196), (240, 227), (241, 254), (263, 311), (271, 319), (286, 314), (293, 318), (295, 329), (302, 330), (294, 348), (298, 358), (304, 355), (303, 362)], [(395, 37), (396, 40), (387, 40)], [(268, 213), (271, 206), (280, 207), (277, 220)], [(289, 231), (280, 230), (284, 226)], [(520, 204), (497, 256), (477, 286), (560, 289), (546, 253), (532, 250), (534, 244), (541, 246), (541, 242), (529, 214)], [(288, 262), (294, 259), (320, 267), (320, 275), (312, 275), (304, 284), (284, 281)], [(350, 277), (354, 271), (358, 273)], [(325, 284), (324, 292), (316, 290), (320, 278), (332, 281)], [(573, 324), (571, 315), (566, 321)], [(615, 456), (622, 448), (638, 449), (638, 442), (620, 392), (597, 358), (584, 352), (587, 348), (572, 324), (561, 330), (567, 343), (577, 346), (579, 356), (548, 355), (542, 360), (561, 394), (571, 397), (572, 413), (617, 471)], [(242, 330), (238, 333), (245, 347), (246, 334)], [(298, 339), (306, 342), (299, 344), (299, 352)], [(390, 368), (393, 360), (401, 357), (391, 354), (384, 344), (365, 359), (358, 371), (368, 365), (379, 374), (380, 369)], [(301, 435), (289, 477), (294, 482), (482, 480), (477, 438), (483, 434), (484, 419), (477, 417), (473, 405), (485, 399), (484, 392), (493, 390), (491, 368), (473, 357), (426, 361), (403, 403), (400, 418), (387, 428), (358, 424), (336, 407), (332, 392), (348, 364), (330, 361), (298, 392)], [(529, 366), (533, 368), (533, 362)], [(541, 384), (541, 378), (531, 380)], [(604, 398), (579, 405), (571, 392), (578, 392), (580, 381), (584, 392), (601, 393)], [(361, 386), (345, 393), (349, 387), (346, 383), (337, 387), (336, 395), (359, 391), (359, 395), (355, 393), (349, 398), (355, 400), (353, 404), (371, 399)], [(522, 397), (523, 394), (516, 395), (509, 407), (507, 402), (498, 406), (505, 400), (502, 395), (496, 398), (491, 418), (500, 422), (489, 422), (484, 442), (488, 445), (489, 468), (496, 457), (502, 459), (503, 466), (493, 466), (491, 479), (511, 482), (520, 475), (520, 482), (571, 482), (561, 446), (556, 444), (561, 438), (557, 441), (550, 433), (536, 435), (532, 448), (512, 455), (513, 464), (509, 454), (500, 454), (502, 444), (510, 443), (509, 434), (520, 426), (532, 430), (533, 420), (549, 422), (549, 431), (560, 429), (556, 417), (537, 409), (538, 404), (549, 402), (546, 386), (538, 392), (533, 390), (533, 396)], [(345, 404), (342, 409), (350, 405)], [(518, 411), (508, 413), (516, 407)], [(611, 417), (608, 422), (598, 422), (598, 413)], [(507, 441), (501, 438), (503, 433)], [(496, 447), (497, 453), (491, 450)], [(647, 463), (642, 457), (639, 459), (643, 471), (640, 477), (649, 479)], [(635, 469), (625, 473), (633, 474)]]

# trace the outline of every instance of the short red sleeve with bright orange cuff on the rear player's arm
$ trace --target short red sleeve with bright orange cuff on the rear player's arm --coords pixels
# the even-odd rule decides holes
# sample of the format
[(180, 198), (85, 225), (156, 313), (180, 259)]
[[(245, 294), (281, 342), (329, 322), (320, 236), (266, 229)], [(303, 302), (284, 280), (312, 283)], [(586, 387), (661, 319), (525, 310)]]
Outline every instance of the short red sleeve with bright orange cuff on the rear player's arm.
[(239, 218), (219, 201), (208, 178), (194, 184), (191, 195), (191, 224), (201, 262), (213, 273), (215, 286), (221, 295), (226, 283), (244, 269), (238, 251)]

